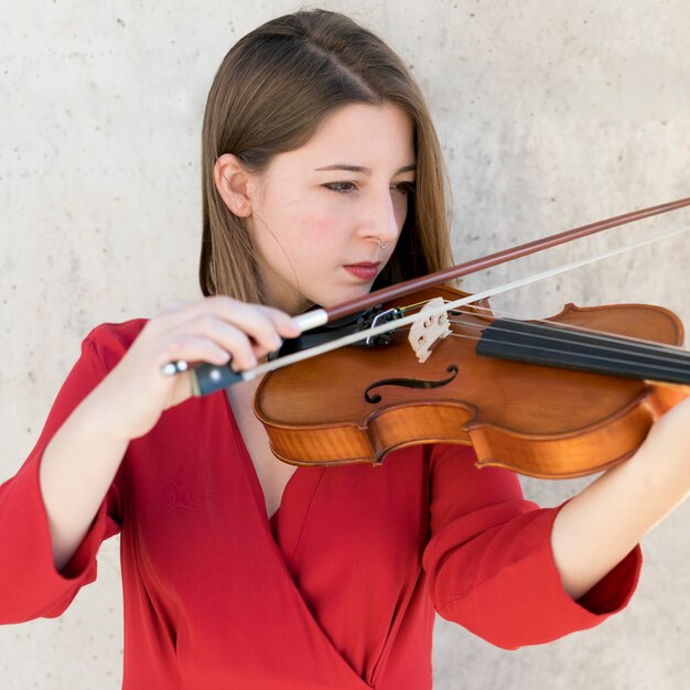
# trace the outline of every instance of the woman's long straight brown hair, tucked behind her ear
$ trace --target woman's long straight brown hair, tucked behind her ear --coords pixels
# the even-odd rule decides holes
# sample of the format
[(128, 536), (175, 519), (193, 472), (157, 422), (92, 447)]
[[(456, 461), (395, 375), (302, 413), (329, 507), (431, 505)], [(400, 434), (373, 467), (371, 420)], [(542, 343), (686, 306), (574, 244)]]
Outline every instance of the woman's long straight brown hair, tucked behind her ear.
[(299, 11), (248, 33), (225, 56), (204, 116), (202, 292), (248, 302), (263, 298), (256, 250), (242, 218), (225, 206), (213, 168), (224, 153), (260, 173), (271, 159), (305, 144), (326, 116), (347, 104), (393, 104), (410, 118), (416, 191), (390, 261), (389, 284), (452, 263), (446, 174), (420, 88), (396, 53), (352, 19)]

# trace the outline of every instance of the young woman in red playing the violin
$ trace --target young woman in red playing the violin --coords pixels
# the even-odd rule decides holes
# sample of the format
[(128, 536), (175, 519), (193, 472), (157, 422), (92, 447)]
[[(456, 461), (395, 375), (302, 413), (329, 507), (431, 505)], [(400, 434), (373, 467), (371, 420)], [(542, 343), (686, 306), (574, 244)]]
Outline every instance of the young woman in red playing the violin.
[(192, 398), (161, 374), (251, 368), (312, 305), (451, 263), (439, 144), (389, 47), (319, 10), (245, 36), (208, 97), (203, 193), (205, 298), (89, 334), (0, 487), (1, 622), (60, 615), (116, 532), (128, 689), (427, 688), (434, 610), (514, 648), (625, 606), (638, 540), (690, 484), (688, 405), (539, 509), (463, 446), (295, 470), (254, 385)]

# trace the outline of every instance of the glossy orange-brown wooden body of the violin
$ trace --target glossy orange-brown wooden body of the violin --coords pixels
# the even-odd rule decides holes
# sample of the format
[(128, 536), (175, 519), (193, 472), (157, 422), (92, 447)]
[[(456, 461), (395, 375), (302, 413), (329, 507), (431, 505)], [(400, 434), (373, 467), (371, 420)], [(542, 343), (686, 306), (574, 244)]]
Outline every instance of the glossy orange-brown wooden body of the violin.
[[(436, 287), (409, 300), (462, 295)], [(424, 364), (401, 330), (386, 346), (344, 347), (268, 374), (255, 413), (273, 453), (299, 465), (378, 464), (406, 445), (460, 443), (474, 446), (479, 466), (576, 477), (629, 457), (690, 395), (687, 385), (479, 356), (477, 336), (494, 321), (465, 309)], [(568, 304), (546, 321), (662, 345), (683, 338), (676, 314), (645, 304)]]

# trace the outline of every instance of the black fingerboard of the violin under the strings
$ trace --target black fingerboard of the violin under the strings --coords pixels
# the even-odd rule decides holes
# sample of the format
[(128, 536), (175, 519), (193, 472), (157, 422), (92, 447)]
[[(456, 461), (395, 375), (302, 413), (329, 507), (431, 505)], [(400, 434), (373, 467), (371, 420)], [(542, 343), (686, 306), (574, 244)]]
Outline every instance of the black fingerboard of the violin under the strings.
[(646, 341), (543, 322), (497, 319), (477, 355), (626, 378), (690, 384), (690, 353)]

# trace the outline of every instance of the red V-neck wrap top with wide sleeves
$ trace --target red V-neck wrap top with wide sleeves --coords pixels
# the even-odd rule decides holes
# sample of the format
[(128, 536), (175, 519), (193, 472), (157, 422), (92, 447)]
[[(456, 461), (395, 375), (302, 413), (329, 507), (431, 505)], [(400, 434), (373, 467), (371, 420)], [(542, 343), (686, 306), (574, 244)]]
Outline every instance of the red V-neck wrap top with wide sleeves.
[(58, 616), (120, 532), (123, 688), (431, 687), (434, 608), (505, 648), (547, 643), (621, 610), (634, 550), (580, 602), (549, 535), (558, 508), (471, 449), (408, 448), (381, 467), (300, 467), (280, 510), (263, 496), (226, 397), (191, 399), (132, 441), (84, 543), (53, 565), (43, 449), (143, 325), (103, 325), (26, 463), (0, 486), (0, 623)]

